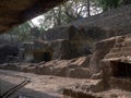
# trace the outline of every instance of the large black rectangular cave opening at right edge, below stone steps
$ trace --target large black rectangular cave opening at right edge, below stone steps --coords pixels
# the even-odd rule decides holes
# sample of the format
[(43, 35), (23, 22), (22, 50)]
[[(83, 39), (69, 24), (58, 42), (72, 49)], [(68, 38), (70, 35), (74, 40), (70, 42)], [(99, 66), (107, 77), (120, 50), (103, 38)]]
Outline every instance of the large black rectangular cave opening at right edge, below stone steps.
[(111, 62), (112, 76), (118, 78), (131, 78), (131, 63)]

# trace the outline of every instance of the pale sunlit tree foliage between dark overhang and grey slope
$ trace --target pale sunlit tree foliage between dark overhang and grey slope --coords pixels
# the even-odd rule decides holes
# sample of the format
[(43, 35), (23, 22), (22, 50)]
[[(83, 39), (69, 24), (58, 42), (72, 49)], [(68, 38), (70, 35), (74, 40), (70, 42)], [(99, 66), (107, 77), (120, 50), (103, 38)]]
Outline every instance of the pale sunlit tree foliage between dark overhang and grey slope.
[[(95, 7), (93, 2), (90, 4), (92, 7), (91, 14), (97, 14), (102, 11), (102, 9)], [(59, 25), (67, 25), (82, 17), (87, 17), (87, 0), (69, 0), (43, 14), (40, 19), (38, 19), (38, 27), (39, 29), (47, 30)]]

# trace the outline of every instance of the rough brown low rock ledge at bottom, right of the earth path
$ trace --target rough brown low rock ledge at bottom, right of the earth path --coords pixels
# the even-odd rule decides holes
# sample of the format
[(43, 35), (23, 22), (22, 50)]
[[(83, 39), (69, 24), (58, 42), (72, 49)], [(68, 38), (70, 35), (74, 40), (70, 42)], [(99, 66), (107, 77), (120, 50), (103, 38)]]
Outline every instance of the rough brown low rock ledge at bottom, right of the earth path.
[(91, 79), (91, 82), (83, 82), (63, 88), (63, 95), (72, 98), (103, 98), (95, 94), (102, 90), (104, 90), (103, 82)]

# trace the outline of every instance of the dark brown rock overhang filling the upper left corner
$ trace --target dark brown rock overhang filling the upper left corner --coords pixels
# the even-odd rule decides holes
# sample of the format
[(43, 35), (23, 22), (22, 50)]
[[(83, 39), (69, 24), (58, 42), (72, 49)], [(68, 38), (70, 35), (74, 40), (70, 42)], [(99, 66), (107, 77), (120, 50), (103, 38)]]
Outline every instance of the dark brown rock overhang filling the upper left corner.
[(0, 0), (0, 33), (4, 33), (67, 0)]

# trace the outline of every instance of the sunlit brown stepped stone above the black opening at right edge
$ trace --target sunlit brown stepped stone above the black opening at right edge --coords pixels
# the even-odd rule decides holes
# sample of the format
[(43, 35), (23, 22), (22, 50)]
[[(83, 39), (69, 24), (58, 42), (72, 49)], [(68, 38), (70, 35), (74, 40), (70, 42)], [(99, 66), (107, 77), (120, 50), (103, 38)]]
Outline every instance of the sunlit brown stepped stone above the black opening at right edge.
[(106, 54), (105, 59), (127, 59), (131, 57), (131, 35), (116, 37), (112, 49)]

